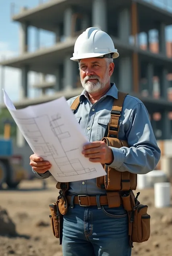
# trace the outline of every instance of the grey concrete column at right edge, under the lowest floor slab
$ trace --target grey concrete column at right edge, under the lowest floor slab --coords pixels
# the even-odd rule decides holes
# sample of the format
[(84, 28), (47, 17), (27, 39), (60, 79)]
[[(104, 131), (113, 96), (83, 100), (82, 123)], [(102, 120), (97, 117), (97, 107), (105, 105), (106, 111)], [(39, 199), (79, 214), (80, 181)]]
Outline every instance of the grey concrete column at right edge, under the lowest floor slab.
[(171, 120), (168, 118), (168, 111), (161, 113), (162, 139), (171, 139)]

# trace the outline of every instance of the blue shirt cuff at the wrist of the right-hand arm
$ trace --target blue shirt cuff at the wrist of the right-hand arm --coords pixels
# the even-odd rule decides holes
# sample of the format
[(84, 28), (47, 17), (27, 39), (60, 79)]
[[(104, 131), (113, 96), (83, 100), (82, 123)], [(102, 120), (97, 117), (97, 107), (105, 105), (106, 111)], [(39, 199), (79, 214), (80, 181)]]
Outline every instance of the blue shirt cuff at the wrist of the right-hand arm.
[(116, 147), (110, 147), (113, 155), (114, 155), (114, 160), (112, 163), (110, 164), (106, 164), (108, 167), (111, 168), (120, 168), (122, 166), (122, 164), (124, 163), (124, 153), (121, 149), (118, 149)]

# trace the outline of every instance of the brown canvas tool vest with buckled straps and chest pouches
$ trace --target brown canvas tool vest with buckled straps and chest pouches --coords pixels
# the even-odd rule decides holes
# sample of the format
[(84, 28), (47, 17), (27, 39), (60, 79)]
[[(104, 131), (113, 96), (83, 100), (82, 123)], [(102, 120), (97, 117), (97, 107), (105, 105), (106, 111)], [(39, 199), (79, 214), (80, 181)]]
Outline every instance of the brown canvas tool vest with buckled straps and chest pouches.
[[(111, 110), (110, 122), (107, 125), (105, 136), (102, 138), (102, 141), (105, 141), (107, 146), (111, 147), (128, 147), (127, 141), (118, 139), (119, 134), (119, 117), (122, 112), (122, 106), (124, 98), (127, 93), (118, 92), (118, 99), (114, 100), (114, 104)], [(71, 110), (75, 110), (79, 106), (79, 96), (74, 100), (71, 105)], [(99, 188), (105, 189), (108, 191), (128, 191), (136, 190), (137, 187), (137, 175), (131, 172), (125, 171), (120, 172), (114, 168), (108, 167), (105, 164), (102, 164), (105, 168), (107, 175), (97, 178), (97, 186)], [(56, 188), (62, 190), (65, 193), (69, 188), (69, 183), (58, 182)]]

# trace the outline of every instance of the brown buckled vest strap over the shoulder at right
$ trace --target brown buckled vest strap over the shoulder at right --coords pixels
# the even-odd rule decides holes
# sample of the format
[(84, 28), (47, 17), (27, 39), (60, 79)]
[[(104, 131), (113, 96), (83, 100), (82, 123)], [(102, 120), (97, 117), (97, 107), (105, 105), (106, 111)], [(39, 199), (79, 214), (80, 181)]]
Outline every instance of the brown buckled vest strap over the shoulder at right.
[(118, 99), (114, 100), (111, 110), (111, 118), (108, 124), (107, 137), (118, 138), (119, 133), (119, 117), (121, 115), (124, 98), (128, 93), (118, 92)]

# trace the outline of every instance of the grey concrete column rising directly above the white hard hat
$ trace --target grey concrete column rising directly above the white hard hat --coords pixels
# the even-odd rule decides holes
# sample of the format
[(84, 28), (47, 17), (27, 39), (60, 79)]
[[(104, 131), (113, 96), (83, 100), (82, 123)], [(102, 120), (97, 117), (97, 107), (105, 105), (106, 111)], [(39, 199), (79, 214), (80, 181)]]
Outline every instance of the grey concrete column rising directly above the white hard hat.
[(93, 0), (92, 27), (100, 28), (107, 32), (107, 3), (106, 0)]

